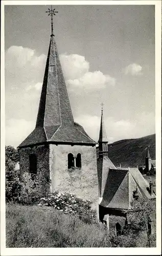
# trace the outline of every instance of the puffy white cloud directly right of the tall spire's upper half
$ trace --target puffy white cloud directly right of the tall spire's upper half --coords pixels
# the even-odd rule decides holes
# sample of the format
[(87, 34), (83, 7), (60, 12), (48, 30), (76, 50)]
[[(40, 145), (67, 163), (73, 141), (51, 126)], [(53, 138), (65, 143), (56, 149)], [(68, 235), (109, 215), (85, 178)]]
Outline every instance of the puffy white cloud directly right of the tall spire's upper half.
[(76, 92), (78, 89), (96, 90), (107, 85), (114, 86), (115, 78), (104, 75), (101, 71), (89, 72), (89, 62), (78, 54), (61, 55), (60, 61), (68, 88)]

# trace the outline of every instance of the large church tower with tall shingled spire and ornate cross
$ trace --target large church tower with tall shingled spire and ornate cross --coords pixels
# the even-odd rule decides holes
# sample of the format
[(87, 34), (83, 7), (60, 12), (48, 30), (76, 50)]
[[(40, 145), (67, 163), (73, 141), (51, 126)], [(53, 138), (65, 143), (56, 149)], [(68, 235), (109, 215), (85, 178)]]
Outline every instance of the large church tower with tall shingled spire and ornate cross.
[(48, 13), (50, 46), (36, 126), (18, 146), (20, 176), (37, 181), (44, 194), (58, 190), (97, 202), (96, 142), (74, 122), (53, 33), (55, 9)]

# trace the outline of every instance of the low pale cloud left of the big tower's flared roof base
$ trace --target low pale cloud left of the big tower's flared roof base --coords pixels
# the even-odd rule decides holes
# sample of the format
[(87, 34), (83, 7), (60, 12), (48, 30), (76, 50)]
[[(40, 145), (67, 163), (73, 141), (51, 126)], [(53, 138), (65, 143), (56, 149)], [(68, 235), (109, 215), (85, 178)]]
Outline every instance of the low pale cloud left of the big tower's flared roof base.
[(34, 130), (35, 121), (11, 118), (6, 121), (6, 145), (17, 147)]

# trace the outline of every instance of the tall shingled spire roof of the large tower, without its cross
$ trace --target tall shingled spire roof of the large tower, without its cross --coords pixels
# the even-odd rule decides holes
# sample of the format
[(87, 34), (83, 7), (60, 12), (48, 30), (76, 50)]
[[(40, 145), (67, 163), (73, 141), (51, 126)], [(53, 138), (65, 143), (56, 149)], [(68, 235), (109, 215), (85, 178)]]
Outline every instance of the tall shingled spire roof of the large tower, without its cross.
[(43, 142), (96, 144), (82, 126), (74, 123), (54, 35), (50, 40), (36, 127), (19, 147)]

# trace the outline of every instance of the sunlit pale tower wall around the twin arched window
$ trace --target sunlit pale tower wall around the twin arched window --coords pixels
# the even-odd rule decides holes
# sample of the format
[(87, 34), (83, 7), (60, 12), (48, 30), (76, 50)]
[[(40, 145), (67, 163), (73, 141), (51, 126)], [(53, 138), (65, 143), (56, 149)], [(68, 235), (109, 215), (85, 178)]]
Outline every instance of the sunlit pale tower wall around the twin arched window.
[[(67, 155), (81, 154), (81, 168), (68, 169)], [(50, 178), (52, 191), (76, 194), (98, 203), (96, 147), (50, 144)]]

